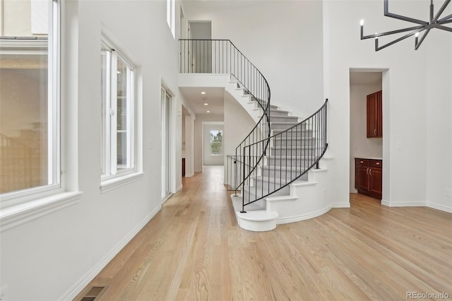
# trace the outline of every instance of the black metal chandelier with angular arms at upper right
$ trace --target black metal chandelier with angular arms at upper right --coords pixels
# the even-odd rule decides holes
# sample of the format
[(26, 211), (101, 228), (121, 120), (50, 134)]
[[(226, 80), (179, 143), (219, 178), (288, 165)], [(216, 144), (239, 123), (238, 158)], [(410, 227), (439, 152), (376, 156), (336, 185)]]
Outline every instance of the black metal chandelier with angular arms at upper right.
[[(388, 1), (389, 0), (383, 0), (384, 1), (384, 16), (390, 17), (390, 18), (396, 18), (399, 20), (404, 20), (407, 22), (419, 24), (417, 26), (412, 26), (409, 28), (403, 28), (399, 30), (392, 30), (387, 31), (386, 33), (375, 33), (375, 35), (364, 35), (364, 20), (361, 20), (359, 23), (361, 25), (361, 40), (364, 39), (370, 39), (371, 37), (375, 38), (375, 51), (379, 51), (383, 48), (386, 48), (388, 46), (391, 46), (393, 44), (396, 44), (397, 42), (400, 42), (402, 40), (405, 40), (407, 37), (411, 37), (412, 35), (415, 35), (415, 50), (417, 50), (422, 42), (424, 42), (425, 37), (429, 34), (430, 30), (432, 28), (437, 28), (441, 30), (446, 30), (448, 32), (452, 33), (452, 28), (448, 26), (444, 26), (444, 24), (452, 23), (452, 14), (445, 16), (441, 18), (441, 14), (444, 13), (446, 10), (446, 7), (451, 3), (451, 0), (444, 1), (444, 4), (439, 8), (439, 11), (434, 15), (434, 9), (433, 9), (433, 0), (430, 0), (430, 20), (429, 21), (423, 21), (423, 20), (417, 20), (415, 18), (400, 16), (396, 13), (390, 13), (388, 9)], [(384, 35), (396, 35), (398, 33), (405, 33), (410, 32), (407, 35), (404, 35), (403, 37), (399, 37), (396, 40), (393, 40), (392, 42), (388, 42), (385, 45), (379, 46), (379, 37), (383, 37)], [(422, 33), (422, 36), (419, 37), (419, 34)]]

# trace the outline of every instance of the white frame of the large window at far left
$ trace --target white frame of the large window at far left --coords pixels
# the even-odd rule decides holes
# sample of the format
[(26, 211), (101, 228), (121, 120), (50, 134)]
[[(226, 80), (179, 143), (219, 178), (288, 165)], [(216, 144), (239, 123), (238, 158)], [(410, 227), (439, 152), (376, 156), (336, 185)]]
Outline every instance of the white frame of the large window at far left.
[[(47, 182), (50, 184), (30, 187), (1, 194), (2, 207), (15, 206), (33, 199), (58, 194), (64, 191), (61, 179), (61, 1), (49, 0), (49, 30), (47, 38), (0, 39), (0, 47), (8, 52), (41, 52), (47, 49)], [(47, 41), (47, 46), (44, 41)]]

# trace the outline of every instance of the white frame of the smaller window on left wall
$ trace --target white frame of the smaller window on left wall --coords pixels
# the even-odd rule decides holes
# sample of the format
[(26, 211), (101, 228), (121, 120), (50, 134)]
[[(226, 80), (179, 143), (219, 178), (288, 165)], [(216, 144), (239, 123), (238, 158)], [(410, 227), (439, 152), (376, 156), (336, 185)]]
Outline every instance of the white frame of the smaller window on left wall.
[[(102, 147), (101, 147), (101, 182), (105, 184), (111, 179), (117, 179), (136, 173), (136, 67), (129, 59), (116, 50), (109, 40), (102, 37), (101, 51), (106, 51), (105, 95), (102, 95)], [(117, 163), (117, 61), (127, 67), (127, 119), (126, 134), (127, 155), (130, 167), (118, 168)], [(103, 72), (103, 71), (102, 71)], [(102, 84), (102, 83), (101, 83)], [(102, 87), (103, 89), (104, 87)], [(101, 185), (102, 188), (102, 185)]]

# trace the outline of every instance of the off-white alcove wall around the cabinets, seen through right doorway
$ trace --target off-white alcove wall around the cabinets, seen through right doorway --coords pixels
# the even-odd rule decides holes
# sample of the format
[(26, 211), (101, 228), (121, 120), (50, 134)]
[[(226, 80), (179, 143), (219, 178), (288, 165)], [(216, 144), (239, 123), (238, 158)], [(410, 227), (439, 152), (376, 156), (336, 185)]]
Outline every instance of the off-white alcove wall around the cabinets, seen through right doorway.
[[(360, 72), (359, 76), (367, 73)], [(367, 95), (381, 90), (378, 83), (350, 81), (350, 192), (355, 189), (355, 158), (382, 158), (383, 138), (367, 138)]]

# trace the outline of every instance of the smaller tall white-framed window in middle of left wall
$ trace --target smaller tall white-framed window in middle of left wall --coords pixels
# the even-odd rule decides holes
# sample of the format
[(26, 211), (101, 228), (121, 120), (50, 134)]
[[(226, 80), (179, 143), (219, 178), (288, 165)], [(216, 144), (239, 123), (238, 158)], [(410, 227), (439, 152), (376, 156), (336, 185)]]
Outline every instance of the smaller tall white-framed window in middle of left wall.
[(108, 179), (134, 170), (134, 69), (102, 43), (102, 175)]

